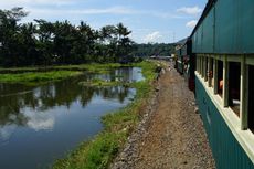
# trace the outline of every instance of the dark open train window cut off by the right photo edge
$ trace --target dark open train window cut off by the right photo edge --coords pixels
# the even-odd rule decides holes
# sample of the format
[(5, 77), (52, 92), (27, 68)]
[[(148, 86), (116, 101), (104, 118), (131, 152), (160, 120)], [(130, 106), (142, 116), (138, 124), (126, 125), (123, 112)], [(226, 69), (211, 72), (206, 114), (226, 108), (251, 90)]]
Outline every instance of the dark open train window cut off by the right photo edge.
[(248, 66), (248, 128), (254, 133), (254, 66)]

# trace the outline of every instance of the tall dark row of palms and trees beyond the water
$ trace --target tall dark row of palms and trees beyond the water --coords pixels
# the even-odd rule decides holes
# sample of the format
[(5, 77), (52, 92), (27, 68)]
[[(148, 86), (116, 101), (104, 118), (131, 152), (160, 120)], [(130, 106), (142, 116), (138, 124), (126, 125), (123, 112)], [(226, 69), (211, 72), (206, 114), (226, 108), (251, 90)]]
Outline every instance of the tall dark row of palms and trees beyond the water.
[(0, 10), (0, 66), (119, 62), (133, 51), (131, 31), (123, 23), (99, 30), (84, 21), (20, 23), (27, 15), (23, 8)]

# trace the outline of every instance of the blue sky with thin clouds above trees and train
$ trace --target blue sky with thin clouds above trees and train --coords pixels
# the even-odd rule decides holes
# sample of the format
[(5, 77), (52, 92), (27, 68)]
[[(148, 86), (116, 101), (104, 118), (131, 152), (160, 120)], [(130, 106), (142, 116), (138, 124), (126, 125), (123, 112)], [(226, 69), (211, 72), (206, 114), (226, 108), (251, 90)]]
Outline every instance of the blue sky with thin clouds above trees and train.
[(208, 0), (0, 0), (0, 9), (23, 7), (33, 19), (85, 21), (94, 29), (124, 23), (137, 43), (172, 43), (190, 35)]

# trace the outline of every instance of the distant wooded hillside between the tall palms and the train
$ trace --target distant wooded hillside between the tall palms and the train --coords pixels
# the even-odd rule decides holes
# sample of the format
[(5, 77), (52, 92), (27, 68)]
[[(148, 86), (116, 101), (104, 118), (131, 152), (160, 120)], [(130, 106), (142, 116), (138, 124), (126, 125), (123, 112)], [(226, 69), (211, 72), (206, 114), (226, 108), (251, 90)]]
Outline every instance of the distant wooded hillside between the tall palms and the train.
[(174, 53), (174, 43), (148, 43), (135, 44), (133, 55), (135, 56), (169, 56)]

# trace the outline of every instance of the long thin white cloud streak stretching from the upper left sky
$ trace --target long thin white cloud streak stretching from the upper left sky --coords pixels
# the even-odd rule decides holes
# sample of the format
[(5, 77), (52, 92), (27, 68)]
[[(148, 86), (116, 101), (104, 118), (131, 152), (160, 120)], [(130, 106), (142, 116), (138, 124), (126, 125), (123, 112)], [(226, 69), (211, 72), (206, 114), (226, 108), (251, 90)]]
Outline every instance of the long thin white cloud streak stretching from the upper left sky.
[[(186, 19), (187, 15), (179, 13), (171, 13), (165, 11), (152, 10), (137, 10), (125, 6), (113, 6), (108, 8), (76, 8), (80, 7), (82, 0), (8, 0), (0, 1), (1, 9), (11, 9), (13, 7), (23, 7), (29, 15), (23, 20), (24, 22), (33, 21), (33, 19), (54, 18), (70, 19), (82, 18), (83, 15), (96, 14), (136, 14), (136, 15), (152, 15), (162, 19)], [(67, 8), (66, 8), (67, 7)], [(74, 8), (75, 7), (75, 8)], [(67, 17), (66, 17), (67, 15)]]

